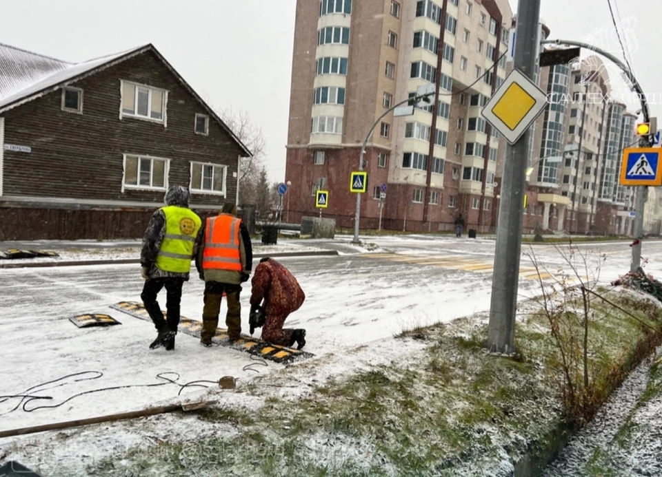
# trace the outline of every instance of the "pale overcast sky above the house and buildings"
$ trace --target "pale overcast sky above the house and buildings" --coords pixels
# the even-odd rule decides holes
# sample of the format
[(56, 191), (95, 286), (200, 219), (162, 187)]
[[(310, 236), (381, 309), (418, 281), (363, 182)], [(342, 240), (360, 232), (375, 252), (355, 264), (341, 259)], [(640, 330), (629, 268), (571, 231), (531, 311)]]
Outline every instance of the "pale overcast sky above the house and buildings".
[[(614, 1), (634, 73), (647, 94), (660, 93), (661, 60), (653, 48), (659, 16), (651, 10), (653, 3)], [(250, 114), (264, 131), (270, 177), (283, 180), (296, 3), (0, 0), (0, 43), (68, 61), (153, 43), (215, 109), (232, 107)], [(516, 13), (517, 0), (510, 3)], [(541, 17), (552, 38), (592, 41), (622, 59), (606, 0), (542, 0)], [(661, 102), (656, 98), (653, 115), (661, 114)]]

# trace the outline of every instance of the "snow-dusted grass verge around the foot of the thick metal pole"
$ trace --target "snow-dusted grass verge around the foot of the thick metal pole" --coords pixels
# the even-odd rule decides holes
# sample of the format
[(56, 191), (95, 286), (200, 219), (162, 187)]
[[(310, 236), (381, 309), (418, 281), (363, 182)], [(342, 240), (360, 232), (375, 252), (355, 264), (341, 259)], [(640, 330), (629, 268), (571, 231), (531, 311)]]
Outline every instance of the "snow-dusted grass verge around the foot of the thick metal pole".
[[(654, 325), (645, 307), (632, 307), (638, 295), (612, 291), (608, 296)], [(390, 359), (319, 381), (310, 379), (315, 375), (310, 363), (285, 368), (245, 388), (263, 398), (257, 411), (224, 407), (201, 415), (203, 426), (230, 426), (234, 432), (135, 446), (86, 471), (97, 476), (508, 475), (526, 454), (546, 452), (563, 421), (556, 348), (534, 306), (527, 305), (516, 330), (519, 359), (485, 352), (484, 316), (415, 327), (394, 340)], [(591, 354), (591, 365), (596, 385), (610, 389), (650, 335), (623, 312), (599, 305), (594, 310), (591, 339), (599, 352)], [(348, 354), (360, 361), (367, 348)], [(292, 397), (279, 389), (292, 381), (307, 385), (307, 391)], [(648, 394), (652, 401), (659, 398)]]

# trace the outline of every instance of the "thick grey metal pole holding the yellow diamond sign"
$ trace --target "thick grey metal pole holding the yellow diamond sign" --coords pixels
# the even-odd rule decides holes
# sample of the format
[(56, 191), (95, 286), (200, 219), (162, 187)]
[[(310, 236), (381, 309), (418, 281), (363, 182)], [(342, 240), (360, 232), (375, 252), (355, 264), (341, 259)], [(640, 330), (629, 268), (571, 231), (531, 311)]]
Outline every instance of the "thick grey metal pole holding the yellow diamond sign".
[[(534, 78), (540, 19), (540, 0), (519, 0), (513, 67)], [(526, 188), (528, 145), (531, 129), (508, 146), (501, 177), (499, 227), (496, 229), (492, 304), (488, 327), (488, 349), (514, 352), (519, 260), (522, 248), (522, 204)]]

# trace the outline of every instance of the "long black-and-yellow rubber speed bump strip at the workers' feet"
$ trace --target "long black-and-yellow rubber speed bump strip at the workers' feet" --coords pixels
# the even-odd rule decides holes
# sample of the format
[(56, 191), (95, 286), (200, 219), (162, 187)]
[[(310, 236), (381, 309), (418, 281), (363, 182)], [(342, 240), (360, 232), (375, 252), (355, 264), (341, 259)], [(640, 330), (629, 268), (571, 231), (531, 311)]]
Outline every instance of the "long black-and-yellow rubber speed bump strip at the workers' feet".
[[(110, 308), (124, 312), (132, 317), (150, 322), (152, 321), (143, 304), (138, 303), (137, 301), (120, 301), (118, 304), (111, 305)], [(165, 316), (165, 311), (163, 312), (163, 315)], [(186, 335), (199, 338), (202, 330), (202, 322), (187, 317), (181, 317), (179, 320), (179, 330)], [(216, 335), (212, 338), (212, 343), (217, 343), (219, 346), (225, 346), (226, 348), (232, 348), (233, 350), (254, 354), (255, 356), (275, 361), (277, 363), (290, 363), (294, 360), (298, 361), (299, 359), (308, 359), (314, 356), (314, 354), (309, 352), (288, 348), (287, 346), (274, 345), (247, 335), (241, 335), (241, 338), (236, 341), (230, 341), (228, 330), (225, 330), (224, 328), (217, 328)]]

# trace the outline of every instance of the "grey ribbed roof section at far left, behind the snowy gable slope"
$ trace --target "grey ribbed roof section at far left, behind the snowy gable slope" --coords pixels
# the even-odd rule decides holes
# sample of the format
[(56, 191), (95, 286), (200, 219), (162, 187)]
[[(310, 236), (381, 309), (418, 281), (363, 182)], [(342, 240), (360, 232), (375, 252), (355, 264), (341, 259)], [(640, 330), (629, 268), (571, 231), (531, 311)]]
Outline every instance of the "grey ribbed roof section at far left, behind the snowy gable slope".
[(0, 43), (0, 101), (71, 63)]

